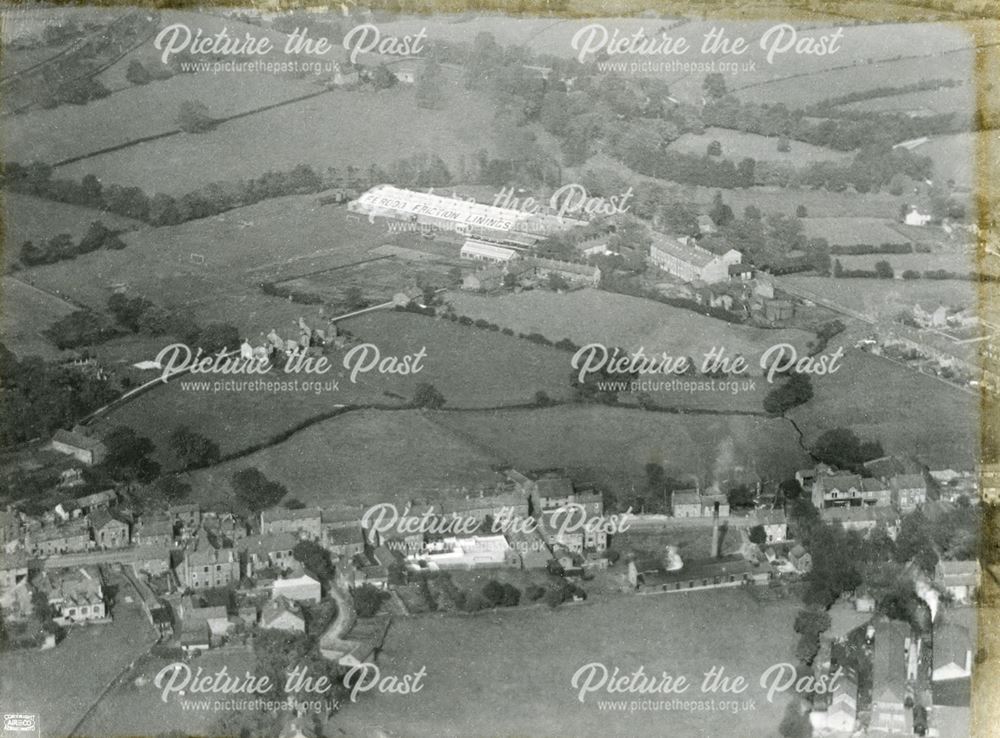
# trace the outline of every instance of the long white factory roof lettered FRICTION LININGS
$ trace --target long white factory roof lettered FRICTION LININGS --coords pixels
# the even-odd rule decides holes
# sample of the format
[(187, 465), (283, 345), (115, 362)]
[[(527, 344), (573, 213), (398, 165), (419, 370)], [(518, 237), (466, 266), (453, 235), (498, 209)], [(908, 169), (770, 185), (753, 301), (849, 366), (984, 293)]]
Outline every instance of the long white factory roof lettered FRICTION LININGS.
[(367, 215), (373, 222), (375, 218), (402, 220), (517, 246), (531, 246), (551, 233), (584, 225), (584, 221), (574, 218), (499, 208), (392, 185), (373, 187), (347, 208)]

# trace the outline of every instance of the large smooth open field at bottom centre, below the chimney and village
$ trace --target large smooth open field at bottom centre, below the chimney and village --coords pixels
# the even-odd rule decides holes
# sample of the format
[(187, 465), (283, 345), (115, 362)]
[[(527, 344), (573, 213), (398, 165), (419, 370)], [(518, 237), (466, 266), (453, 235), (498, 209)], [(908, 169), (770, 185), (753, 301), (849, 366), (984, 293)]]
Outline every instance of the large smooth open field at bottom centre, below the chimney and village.
[[(669, 734), (777, 736), (788, 695), (768, 702), (761, 673), (792, 659), (797, 604), (761, 604), (739, 591), (618, 597), (552, 611), (532, 608), (476, 617), (397, 620), (379, 657), (382, 674), (426, 668), (416, 696), (361, 695), (335, 719), (346, 735), (636, 736)], [(734, 647), (734, 644), (738, 646)], [(684, 675), (687, 692), (608, 694), (581, 703), (574, 673), (599, 662), (609, 671)], [(723, 666), (751, 684), (743, 698), (756, 708), (733, 715), (722, 709), (675, 708), (675, 697), (711, 699), (701, 693), (703, 674)], [(509, 675), (516, 674), (515, 678)], [(649, 700), (648, 709), (615, 709), (599, 701)], [(721, 697), (716, 697), (718, 704)]]

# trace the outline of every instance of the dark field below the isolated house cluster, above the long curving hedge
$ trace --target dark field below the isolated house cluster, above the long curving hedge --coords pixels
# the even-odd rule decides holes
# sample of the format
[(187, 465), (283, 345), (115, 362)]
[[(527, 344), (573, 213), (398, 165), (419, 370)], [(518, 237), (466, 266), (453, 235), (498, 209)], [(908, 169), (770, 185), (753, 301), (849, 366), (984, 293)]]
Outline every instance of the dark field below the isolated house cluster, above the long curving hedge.
[[(349, 349), (343, 349), (330, 354), (333, 368), (325, 375), (282, 375), (275, 368), (264, 377), (298, 379), (298, 389), (185, 389), (189, 380), (232, 377), (174, 379), (113, 411), (102, 422), (145, 428), (160, 449), (166, 448), (166, 437), (176, 426), (187, 424), (216, 440), (227, 454), (269, 441), (343, 405), (402, 407), (421, 382), (433, 384), (444, 395), (448, 408), (525, 404), (532, 402), (539, 390), (555, 400), (570, 394), (569, 354), (553, 348), (412, 313), (369, 313), (344, 325), (359, 341), (376, 344), (381, 357), (413, 355), (426, 348), (423, 369), (408, 376), (362, 373), (352, 382), (342, 365)], [(315, 379), (337, 381), (338, 388), (302, 388), (301, 382)], [(150, 417), (159, 420), (155, 427), (146, 422)]]

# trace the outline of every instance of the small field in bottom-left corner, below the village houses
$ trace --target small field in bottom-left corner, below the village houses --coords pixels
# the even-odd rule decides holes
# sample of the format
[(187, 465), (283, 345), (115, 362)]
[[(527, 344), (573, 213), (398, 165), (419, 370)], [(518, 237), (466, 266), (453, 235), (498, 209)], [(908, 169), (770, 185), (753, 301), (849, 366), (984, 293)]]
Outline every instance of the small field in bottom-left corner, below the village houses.
[(70, 735), (104, 688), (153, 642), (139, 605), (122, 601), (114, 622), (71, 628), (49, 651), (0, 653), (4, 711), (37, 715), (42, 735)]

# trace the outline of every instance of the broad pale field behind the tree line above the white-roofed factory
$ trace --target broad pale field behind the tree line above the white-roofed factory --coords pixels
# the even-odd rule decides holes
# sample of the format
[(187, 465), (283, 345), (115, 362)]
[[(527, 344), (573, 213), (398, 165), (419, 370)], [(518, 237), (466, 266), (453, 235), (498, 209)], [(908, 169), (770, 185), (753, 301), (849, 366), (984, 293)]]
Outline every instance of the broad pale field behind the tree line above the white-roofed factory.
[[(225, 80), (243, 75), (223, 76)], [(236, 182), (270, 170), (309, 164), (367, 168), (420, 153), (437, 153), (458, 173), (461, 156), (491, 149), (492, 106), (457, 83), (440, 110), (416, 106), (413, 90), (336, 90), (239, 118), (201, 134), (181, 134), (104, 154), (59, 169), (61, 176), (96, 174), (107, 182), (183, 194), (211, 182)], [(457, 114), (456, 111), (461, 111)], [(406, 125), (400, 125), (406, 121)], [(363, 122), (363, 124), (362, 124)], [(280, 132), (280, 133), (277, 133)], [(169, 163), (157, 169), (149, 161)], [(204, 166), (211, 162), (212, 166)]]

